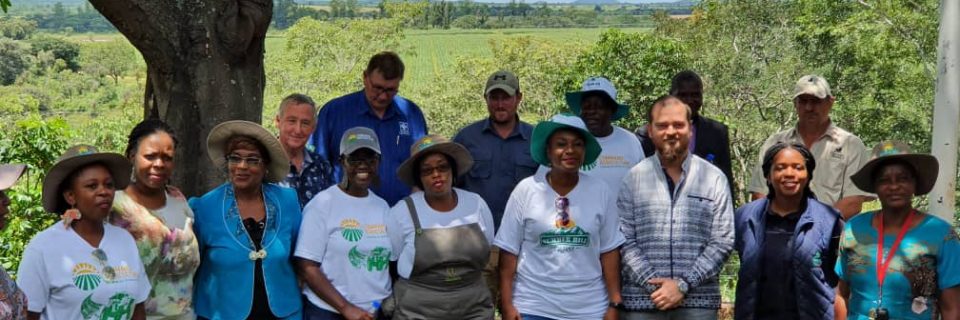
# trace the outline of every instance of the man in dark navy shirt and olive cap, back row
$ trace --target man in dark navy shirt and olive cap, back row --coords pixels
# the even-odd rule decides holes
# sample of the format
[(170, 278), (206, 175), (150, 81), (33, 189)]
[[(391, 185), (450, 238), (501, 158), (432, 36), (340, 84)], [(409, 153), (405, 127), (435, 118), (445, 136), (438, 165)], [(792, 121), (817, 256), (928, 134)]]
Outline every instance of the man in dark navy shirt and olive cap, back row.
[[(497, 230), (510, 192), (520, 180), (536, 172), (537, 163), (530, 156), (533, 126), (520, 121), (517, 115), (523, 100), (517, 76), (503, 70), (490, 75), (483, 98), (490, 116), (464, 127), (453, 141), (462, 144), (473, 156), (473, 167), (458, 181), (458, 186), (476, 192), (487, 202), (494, 230)], [(497, 304), (499, 255), (500, 249), (492, 247), (490, 260), (483, 270), (494, 305)]]

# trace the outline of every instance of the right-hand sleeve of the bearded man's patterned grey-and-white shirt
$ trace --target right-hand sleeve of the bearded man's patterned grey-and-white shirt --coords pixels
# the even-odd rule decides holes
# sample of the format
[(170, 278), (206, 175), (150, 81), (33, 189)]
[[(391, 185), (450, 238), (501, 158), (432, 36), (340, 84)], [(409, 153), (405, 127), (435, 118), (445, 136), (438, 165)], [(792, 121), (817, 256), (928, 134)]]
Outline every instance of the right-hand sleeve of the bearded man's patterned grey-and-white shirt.
[(726, 180), (725, 177), (721, 176), (714, 182), (714, 190), (717, 190), (717, 203), (713, 206), (710, 241), (707, 242), (690, 270), (682, 275), (682, 279), (687, 282), (690, 288), (696, 288), (704, 280), (717, 275), (733, 250), (733, 205), (730, 192), (727, 190)]

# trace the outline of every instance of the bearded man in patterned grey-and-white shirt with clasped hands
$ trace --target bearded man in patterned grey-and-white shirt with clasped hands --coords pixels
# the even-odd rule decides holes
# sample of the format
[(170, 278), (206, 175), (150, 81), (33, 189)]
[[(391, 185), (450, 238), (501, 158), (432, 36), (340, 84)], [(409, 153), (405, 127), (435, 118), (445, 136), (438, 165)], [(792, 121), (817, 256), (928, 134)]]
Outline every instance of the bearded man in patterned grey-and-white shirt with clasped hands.
[(723, 172), (690, 153), (692, 117), (680, 99), (657, 99), (647, 113), (656, 152), (623, 179), (621, 319), (717, 318), (733, 205)]

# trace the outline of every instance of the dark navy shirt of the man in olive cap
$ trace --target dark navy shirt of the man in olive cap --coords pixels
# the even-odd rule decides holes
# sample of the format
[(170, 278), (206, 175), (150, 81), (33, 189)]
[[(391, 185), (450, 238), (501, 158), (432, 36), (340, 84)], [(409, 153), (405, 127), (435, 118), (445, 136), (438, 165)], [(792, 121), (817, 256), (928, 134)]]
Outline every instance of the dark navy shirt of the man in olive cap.
[(460, 130), (453, 141), (462, 144), (473, 156), (473, 168), (457, 184), (475, 192), (487, 202), (493, 215), (494, 230), (500, 229), (503, 210), (510, 193), (520, 180), (537, 172), (530, 157), (533, 126), (517, 121), (513, 132), (501, 138), (490, 119), (474, 122)]

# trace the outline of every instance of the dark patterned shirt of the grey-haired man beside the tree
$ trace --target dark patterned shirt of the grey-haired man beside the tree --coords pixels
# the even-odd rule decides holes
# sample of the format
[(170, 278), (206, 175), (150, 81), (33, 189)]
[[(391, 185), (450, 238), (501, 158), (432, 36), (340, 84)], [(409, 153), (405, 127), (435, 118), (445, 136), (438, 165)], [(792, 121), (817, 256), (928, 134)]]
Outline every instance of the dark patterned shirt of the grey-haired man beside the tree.
[(297, 166), (290, 163), (290, 172), (280, 185), (297, 190), (302, 209), (313, 196), (333, 185), (333, 168), (319, 154), (304, 149), (303, 170), (297, 172)]

